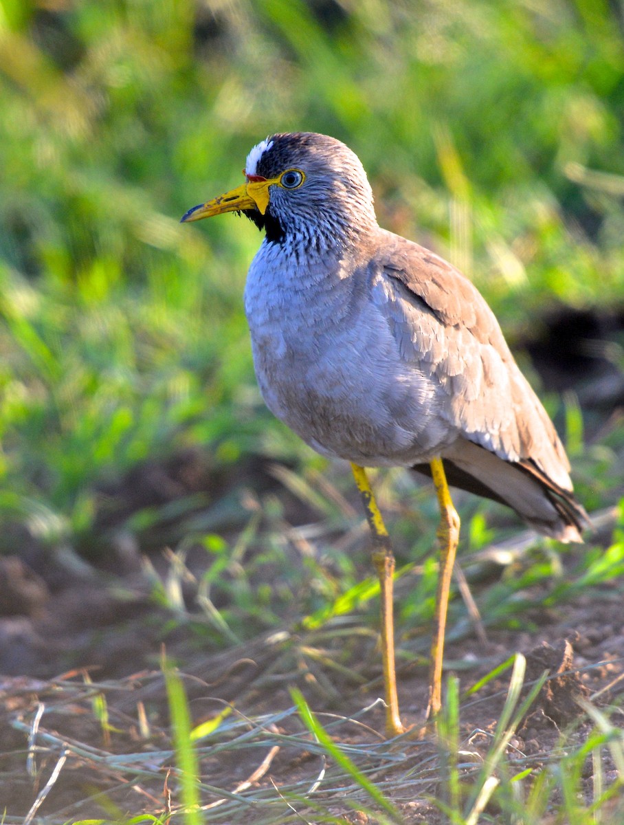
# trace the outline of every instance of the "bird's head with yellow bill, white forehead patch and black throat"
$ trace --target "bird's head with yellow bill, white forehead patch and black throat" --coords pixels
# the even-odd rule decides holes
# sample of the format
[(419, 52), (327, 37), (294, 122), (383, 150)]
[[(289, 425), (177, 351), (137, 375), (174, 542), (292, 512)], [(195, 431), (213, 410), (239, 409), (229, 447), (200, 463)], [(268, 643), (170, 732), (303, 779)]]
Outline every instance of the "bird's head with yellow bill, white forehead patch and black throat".
[(242, 186), (194, 206), (182, 222), (242, 212), (273, 243), (332, 243), (376, 224), (359, 158), (325, 134), (274, 134), (251, 149), (243, 172)]

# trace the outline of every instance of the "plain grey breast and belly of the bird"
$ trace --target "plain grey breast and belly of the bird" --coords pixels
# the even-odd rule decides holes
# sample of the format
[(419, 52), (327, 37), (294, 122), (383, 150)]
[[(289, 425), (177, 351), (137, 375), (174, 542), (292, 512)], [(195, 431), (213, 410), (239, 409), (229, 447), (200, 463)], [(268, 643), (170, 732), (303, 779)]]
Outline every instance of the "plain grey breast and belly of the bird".
[(353, 262), (308, 259), (302, 269), (280, 247), (260, 247), (245, 290), (256, 375), (270, 410), (315, 450), (410, 465), (456, 433), (430, 376), (401, 357), (370, 279)]

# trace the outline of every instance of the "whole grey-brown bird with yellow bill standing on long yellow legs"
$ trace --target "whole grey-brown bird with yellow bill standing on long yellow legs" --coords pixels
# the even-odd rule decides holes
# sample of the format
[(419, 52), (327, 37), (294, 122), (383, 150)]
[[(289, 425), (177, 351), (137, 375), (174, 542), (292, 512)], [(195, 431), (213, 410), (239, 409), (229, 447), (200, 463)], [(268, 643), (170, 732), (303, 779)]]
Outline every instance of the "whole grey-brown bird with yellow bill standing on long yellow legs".
[(350, 462), (373, 537), (389, 737), (404, 733), (396, 691), (395, 560), (367, 468), (433, 479), (439, 580), (425, 719), (442, 707), (443, 643), (460, 521), (449, 485), (510, 507), (537, 533), (581, 542), (589, 526), (570, 463), (476, 286), (387, 229), (358, 156), (325, 134), (256, 144), (245, 181), (188, 210), (227, 212), (264, 231), (244, 290), (260, 392), (321, 455)]

